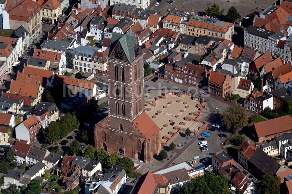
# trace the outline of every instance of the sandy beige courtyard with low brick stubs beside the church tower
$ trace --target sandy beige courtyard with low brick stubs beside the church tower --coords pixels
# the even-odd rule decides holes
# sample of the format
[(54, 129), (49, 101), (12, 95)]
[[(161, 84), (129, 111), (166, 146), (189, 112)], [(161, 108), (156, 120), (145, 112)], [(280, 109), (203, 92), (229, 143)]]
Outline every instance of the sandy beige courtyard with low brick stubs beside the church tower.
[[(151, 101), (150, 101), (151, 102)], [(181, 133), (189, 128), (192, 133), (199, 133), (199, 127), (203, 122), (194, 121), (197, 116), (192, 116), (192, 112), (198, 111), (198, 100), (193, 100), (190, 96), (168, 95), (165, 99), (153, 101), (155, 106), (145, 103), (145, 110), (149, 117), (162, 129), (161, 142), (166, 145), (171, 141), (180, 144)], [(185, 117), (192, 120), (185, 120)], [(171, 140), (171, 141), (170, 141)]]

